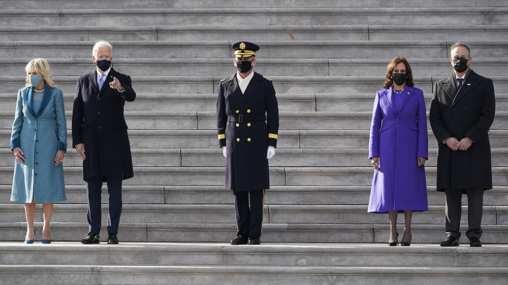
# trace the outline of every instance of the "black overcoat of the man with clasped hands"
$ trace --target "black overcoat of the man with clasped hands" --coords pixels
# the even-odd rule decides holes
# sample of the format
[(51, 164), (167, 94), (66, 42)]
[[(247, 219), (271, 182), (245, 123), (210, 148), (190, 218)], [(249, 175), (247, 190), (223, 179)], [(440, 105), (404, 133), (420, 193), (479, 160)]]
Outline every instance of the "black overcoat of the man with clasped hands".
[[(437, 190), (444, 188), (492, 189), (489, 128), (496, 109), (494, 85), (472, 70), (457, 93), (455, 75), (437, 81), (429, 120), (437, 138)], [(466, 151), (453, 151), (443, 141), (469, 137)]]

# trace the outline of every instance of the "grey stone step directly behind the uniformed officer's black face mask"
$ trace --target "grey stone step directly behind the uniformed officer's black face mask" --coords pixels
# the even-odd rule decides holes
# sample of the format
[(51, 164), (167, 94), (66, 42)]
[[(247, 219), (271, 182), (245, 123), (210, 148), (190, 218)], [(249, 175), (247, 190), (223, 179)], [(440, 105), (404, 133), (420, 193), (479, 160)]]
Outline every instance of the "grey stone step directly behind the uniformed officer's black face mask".
[[(508, 27), (506, 28), (508, 29)], [(116, 50), (115, 50), (116, 51)], [(46, 58), (53, 76), (80, 76), (93, 70), (90, 58)], [(24, 76), (31, 58), (0, 59), (5, 75)], [(392, 58), (258, 58), (256, 72), (270, 76), (383, 76)], [(452, 73), (449, 57), (407, 58), (414, 76), (443, 76)], [(130, 76), (201, 76), (235, 73), (232, 58), (116, 58), (117, 70)], [(474, 57), (471, 68), (483, 76), (498, 76), (508, 67), (505, 58)], [(148, 71), (149, 70), (149, 71)], [(380, 86), (384, 81), (379, 83)], [(503, 92), (504, 93), (504, 92)], [(147, 94), (148, 95), (148, 94)]]

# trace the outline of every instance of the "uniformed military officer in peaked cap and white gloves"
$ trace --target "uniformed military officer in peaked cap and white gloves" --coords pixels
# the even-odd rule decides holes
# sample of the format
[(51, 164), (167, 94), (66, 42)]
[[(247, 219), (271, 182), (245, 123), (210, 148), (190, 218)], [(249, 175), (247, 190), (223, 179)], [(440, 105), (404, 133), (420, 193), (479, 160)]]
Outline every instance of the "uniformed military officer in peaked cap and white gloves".
[(233, 190), (238, 224), (231, 244), (261, 244), (263, 200), (270, 187), (268, 159), (277, 146), (279, 111), (272, 81), (252, 70), (259, 47), (239, 42), (233, 49), (237, 72), (220, 82), (217, 96), (226, 189)]

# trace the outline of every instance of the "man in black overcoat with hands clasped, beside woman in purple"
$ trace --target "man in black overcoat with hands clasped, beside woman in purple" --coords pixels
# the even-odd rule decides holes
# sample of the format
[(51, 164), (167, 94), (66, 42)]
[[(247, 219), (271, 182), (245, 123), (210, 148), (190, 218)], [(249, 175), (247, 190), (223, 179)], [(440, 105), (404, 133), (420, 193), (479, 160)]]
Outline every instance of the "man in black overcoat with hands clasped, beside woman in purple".
[(494, 121), (494, 85), (469, 68), (469, 48), (456, 43), (454, 73), (434, 85), (430, 124), (438, 142), (437, 191), (446, 196), (446, 232), (441, 246), (458, 246), (462, 194), (467, 194), (470, 246), (482, 246), (483, 192), (492, 189), (488, 131)]

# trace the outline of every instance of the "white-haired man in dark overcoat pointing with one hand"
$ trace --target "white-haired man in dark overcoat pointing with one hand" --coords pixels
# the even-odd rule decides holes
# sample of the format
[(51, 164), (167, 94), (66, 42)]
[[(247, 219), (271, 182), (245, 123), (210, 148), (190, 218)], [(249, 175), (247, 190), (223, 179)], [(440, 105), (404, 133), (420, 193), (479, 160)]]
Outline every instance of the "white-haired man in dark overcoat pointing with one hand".
[(82, 243), (99, 243), (101, 231), (101, 188), (108, 185), (108, 239), (118, 243), (122, 210), (122, 180), (134, 176), (125, 101), (134, 101), (131, 78), (111, 67), (113, 48), (105, 41), (93, 46), (96, 68), (78, 79), (72, 112), (73, 147), (83, 158), (83, 180), (88, 197), (89, 232)]

